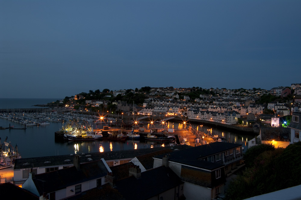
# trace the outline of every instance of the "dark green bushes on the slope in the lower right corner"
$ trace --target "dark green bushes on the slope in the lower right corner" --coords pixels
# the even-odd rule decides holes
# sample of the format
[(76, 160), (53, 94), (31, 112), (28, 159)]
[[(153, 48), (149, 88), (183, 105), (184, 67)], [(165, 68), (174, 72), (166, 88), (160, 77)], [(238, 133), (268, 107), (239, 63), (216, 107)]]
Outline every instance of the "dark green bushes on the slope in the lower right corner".
[(248, 167), (231, 181), (225, 199), (245, 199), (301, 184), (301, 142), (287, 148), (261, 144), (249, 148), (244, 158)]

